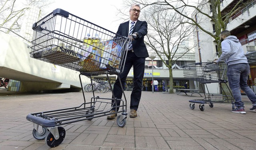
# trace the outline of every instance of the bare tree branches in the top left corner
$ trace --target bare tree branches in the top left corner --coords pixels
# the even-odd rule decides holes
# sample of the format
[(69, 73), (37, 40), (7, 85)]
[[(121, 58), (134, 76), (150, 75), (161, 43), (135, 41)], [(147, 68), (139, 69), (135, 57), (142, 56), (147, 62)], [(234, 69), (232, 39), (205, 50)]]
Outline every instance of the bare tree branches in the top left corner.
[[(21, 28), (25, 10), (30, 9), (29, 6), (36, 6), (42, 9), (51, 4), (49, 0), (23, 0), (23, 2), (20, 3), (17, 0), (0, 0), (0, 30), (2, 32), (7, 34), (10, 30), (18, 32)], [(9, 30), (6, 30), (6, 28)]]

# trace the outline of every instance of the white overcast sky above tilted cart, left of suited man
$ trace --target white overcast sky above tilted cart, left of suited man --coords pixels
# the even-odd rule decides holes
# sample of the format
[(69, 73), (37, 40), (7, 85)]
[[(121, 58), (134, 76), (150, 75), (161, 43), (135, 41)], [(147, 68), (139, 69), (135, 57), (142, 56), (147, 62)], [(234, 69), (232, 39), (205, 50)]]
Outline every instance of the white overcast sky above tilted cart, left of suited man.
[[(117, 17), (117, 8), (124, 8), (123, 0), (54, 0), (45, 12), (49, 14), (56, 8), (88, 20), (98, 26), (116, 32), (122, 20)], [(129, 14), (129, 12), (127, 12)]]

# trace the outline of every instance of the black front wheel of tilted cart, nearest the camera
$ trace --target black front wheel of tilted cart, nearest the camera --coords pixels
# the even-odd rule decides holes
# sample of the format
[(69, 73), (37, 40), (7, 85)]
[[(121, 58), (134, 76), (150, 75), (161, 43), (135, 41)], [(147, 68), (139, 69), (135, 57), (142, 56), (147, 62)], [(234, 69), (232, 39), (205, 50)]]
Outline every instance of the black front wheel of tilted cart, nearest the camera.
[(48, 131), (48, 134), (45, 137), (45, 142), (48, 146), (56, 147), (56, 146), (60, 145), (60, 143), (64, 140), (65, 135), (66, 135), (65, 129), (61, 126), (58, 126), (58, 131), (59, 131), (59, 139), (58, 140), (56, 140), (54, 138), (54, 136), (52, 135), (52, 133), (50, 131)]

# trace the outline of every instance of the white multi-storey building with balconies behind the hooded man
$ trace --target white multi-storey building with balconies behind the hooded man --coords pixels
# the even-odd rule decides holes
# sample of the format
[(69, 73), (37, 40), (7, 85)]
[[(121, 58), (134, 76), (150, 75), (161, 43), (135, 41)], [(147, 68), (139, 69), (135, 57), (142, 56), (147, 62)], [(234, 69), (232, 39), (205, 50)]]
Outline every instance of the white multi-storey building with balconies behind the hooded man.
[[(226, 12), (230, 12), (233, 6), (239, 0), (220, 0), (220, 8), (221, 13), (226, 14)], [(209, 0), (202, 0), (200, 10), (202, 12), (212, 16), (212, 7)], [(244, 6), (245, 5), (245, 6)], [(226, 30), (229, 30), (232, 35), (237, 36), (242, 44), (242, 48), (244, 49), (244, 54), (248, 54), (255, 51), (256, 46), (256, 0), (244, 0), (240, 7), (238, 7), (238, 11), (230, 16)], [(192, 18), (197, 21), (202, 28), (207, 31), (212, 32), (212, 34), (216, 34), (215, 25), (210, 20), (210, 18), (202, 15), (200, 13), (194, 12), (192, 14)], [(194, 33), (195, 38), (194, 41), (198, 44), (195, 50), (196, 62), (208, 62), (212, 61), (217, 56), (217, 44), (209, 34), (206, 34), (199, 28), (197, 28)], [(252, 64), (251, 72), (252, 72)], [(256, 72), (256, 71), (255, 71)], [(250, 84), (255, 84), (251, 79), (256, 78), (256, 75), (253, 77), (250, 76)], [(209, 86), (208, 86), (209, 88)], [(209, 89), (210, 93), (220, 93), (218, 88), (218, 84), (212, 84)], [(241, 91), (242, 92), (242, 91)]]

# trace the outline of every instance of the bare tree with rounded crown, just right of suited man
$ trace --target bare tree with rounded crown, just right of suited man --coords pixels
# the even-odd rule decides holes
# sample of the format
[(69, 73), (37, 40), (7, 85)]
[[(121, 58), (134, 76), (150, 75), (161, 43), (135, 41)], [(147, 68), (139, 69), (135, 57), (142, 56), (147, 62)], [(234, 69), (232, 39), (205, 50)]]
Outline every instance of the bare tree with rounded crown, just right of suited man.
[(151, 6), (144, 10), (142, 18), (148, 22), (145, 44), (149, 50), (154, 50), (169, 69), (170, 93), (173, 93), (172, 64), (194, 49), (191, 43), (188, 44), (188, 37), (193, 34), (192, 26), (184, 24), (186, 19), (183, 16), (163, 10), (162, 6)]

